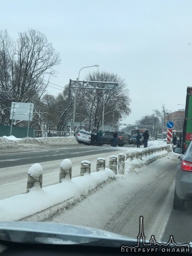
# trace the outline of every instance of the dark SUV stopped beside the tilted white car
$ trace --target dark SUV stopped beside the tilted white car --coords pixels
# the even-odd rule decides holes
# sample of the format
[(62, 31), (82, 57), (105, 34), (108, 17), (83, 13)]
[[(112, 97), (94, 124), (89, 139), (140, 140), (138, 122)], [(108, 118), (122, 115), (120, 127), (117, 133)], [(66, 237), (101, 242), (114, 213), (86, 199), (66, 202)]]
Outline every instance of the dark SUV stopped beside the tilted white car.
[[(113, 146), (113, 134), (114, 131), (103, 131), (103, 136), (101, 137), (101, 144), (108, 144)], [(128, 143), (128, 136), (125, 132), (117, 131), (117, 145), (122, 147)]]

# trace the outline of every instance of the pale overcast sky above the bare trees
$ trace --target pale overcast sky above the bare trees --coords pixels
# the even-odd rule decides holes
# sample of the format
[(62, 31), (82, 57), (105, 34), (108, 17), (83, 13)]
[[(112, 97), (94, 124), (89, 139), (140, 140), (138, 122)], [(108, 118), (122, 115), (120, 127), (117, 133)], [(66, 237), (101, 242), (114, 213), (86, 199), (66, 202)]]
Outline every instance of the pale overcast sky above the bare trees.
[[(0, 28), (13, 39), (33, 28), (60, 54), (59, 86), (82, 67), (125, 79), (134, 123), (153, 109), (176, 111), (192, 86), (192, 0), (0, 0)], [(83, 69), (80, 80), (96, 67)], [(48, 87), (58, 95), (61, 87)]]

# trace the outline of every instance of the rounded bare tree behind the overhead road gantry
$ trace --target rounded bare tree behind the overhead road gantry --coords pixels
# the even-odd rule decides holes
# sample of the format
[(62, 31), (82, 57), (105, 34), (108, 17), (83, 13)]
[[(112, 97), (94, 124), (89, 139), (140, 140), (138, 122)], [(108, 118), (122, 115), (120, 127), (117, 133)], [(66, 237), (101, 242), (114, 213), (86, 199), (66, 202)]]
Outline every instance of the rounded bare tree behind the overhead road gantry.
[[(78, 93), (79, 106), (77, 116), (79, 121), (86, 121), (89, 130), (92, 127), (97, 129), (102, 122), (103, 104), (104, 121), (106, 124), (116, 124), (130, 114), (129, 90), (125, 81), (109, 72), (92, 72), (86, 76), (87, 81), (104, 81), (119, 83), (118, 91), (102, 90), (103, 84), (95, 84), (95, 87), (101, 89), (80, 89)], [(91, 91), (92, 90), (92, 91)]]

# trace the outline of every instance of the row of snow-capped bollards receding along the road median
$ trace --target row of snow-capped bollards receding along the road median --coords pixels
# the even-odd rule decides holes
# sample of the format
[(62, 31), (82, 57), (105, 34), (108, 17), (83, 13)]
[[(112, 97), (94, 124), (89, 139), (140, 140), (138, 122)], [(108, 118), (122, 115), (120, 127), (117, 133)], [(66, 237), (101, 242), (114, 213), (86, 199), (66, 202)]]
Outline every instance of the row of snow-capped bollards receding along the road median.
[[(158, 147), (146, 147), (139, 150), (128, 150), (126, 153), (126, 160), (128, 160), (130, 166), (134, 164), (134, 167), (141, 167), (143, 164), (149, 164), (151, 161), (156, 160), (159, 157), (159, 154), (162, 150), (170, 152), (172, 149), (170, 145), (167, 146), (158, 146)], [(153, 155), (153, 157), (151, 157)], [(118, 161), (117, 161), (118, 159)], [(135, 160), (137, 160), (135, 162)], [(142, 161), (143, 160), (143, 161)], [(96, 172), (100, 170), (105, 170), (106, 168), (106, 159), (103, 157), (97, 158)], [(109, 157), (109, 169), (111, 169), (114, 174), (125, 174), (125, 154), (120, 153), (117, 156)], [(91, 173), (91, 163), (89, 161), (81, 161), (80, 176), (83, 176), (85, 173)], [(40, 164), (33, 164), (28, 170), (28, 181), (27, 181), (27, 193), (37, 182), (42, 188), (42, 175), (43, 169)], [(72, 177), (72, 162), (70, 159), (64, 159), (60, 164), (60, 173), (59, 173), (59, 183), (62, 182), (65, 178)]]

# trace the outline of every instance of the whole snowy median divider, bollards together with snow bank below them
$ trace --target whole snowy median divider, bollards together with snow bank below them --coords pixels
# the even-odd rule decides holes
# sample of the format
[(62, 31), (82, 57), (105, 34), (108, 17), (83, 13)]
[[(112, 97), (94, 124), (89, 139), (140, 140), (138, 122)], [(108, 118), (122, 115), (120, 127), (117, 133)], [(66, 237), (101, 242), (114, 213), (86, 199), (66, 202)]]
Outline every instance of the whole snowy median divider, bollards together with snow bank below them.
[(58, 184), (43, 188), (42, 167), (33, 164), (28, 170), (27, 193), (0, 200), (0, 219), (42, 221), (85, 198), (107, 181), (116, 179), (118, 174), (128, 175), (135, 167), (164, 157), (171, 150), (170, 145), (127, 150), (126, 155), (110, 156), (109, 168), (106, 168), (106, 159), (100, 157), (94, 172), (91, 172), (91, 163), (84, 160), (81, 161), (80, 176), (75, 178), (71, 178), (72, 162), (64, 159), (60, 164)]

